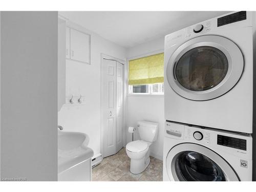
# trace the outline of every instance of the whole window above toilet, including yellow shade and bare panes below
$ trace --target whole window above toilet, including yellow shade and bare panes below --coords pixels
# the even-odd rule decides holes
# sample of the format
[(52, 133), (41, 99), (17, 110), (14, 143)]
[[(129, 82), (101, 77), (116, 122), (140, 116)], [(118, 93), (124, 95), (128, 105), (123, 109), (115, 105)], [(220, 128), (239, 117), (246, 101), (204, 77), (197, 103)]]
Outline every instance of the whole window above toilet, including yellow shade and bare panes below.
[(163, 94), (163, 53), (129, 61), (129, 94)]

